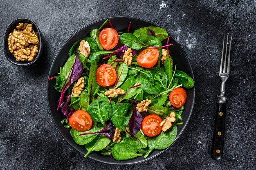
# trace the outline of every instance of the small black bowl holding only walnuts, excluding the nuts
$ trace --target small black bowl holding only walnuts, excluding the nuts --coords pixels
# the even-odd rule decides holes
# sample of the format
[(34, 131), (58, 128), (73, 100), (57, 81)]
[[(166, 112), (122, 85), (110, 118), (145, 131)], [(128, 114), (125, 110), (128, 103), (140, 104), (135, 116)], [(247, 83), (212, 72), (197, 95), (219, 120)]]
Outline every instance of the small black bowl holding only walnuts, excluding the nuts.
[[(16, 29), (16, 26), (20, 22), (32, 24), (34, 31), (38, 32), (38, 40), (39, 40), (38, 54), (35, 56), (34, 60), (30, 61), (30, 62), (29, 61), (16, 61), (16, 58), (13, 56), (13, 54), (11, 54), (11, 52), (8, 49), (9, 34), (11, 32), (13, 32), (14, 29)], [(9, 62), (11, 62), (14, 65), (28, 66), (28, 65), (35, 63), (36, 60), (38, 60), (38, 58), (41, 56), (42, 52), (43, 52), (42, 36), (41, 36), (39, 28), (37, 27), (37, 25), (34, 21), (29, 20), (27, 18), (18, 18), (16, 20), (14, 20), (13, 22), (11, 22), (11, 24), (7, 27), (7, 29), (4, 33), (4, 55), (7, 58), (7, 60), (9, 60)]]

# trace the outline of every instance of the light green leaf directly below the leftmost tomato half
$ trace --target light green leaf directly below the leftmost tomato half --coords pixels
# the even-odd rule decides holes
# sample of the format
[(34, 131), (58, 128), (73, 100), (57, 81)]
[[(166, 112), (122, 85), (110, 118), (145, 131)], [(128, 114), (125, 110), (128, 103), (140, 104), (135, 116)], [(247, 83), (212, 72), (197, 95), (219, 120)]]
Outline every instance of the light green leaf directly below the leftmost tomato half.
[[(86, 132), (97, 132), (99, 130), (100, 129), (94, 125), (94, 127), (92, 127), (90, 130)], [(97, 136), (96, 134), (88, 134), (88, 135), (80, 136), (80, 134), (83, 134), (83, 133), (85, 132), (78, 132), (73, 128), (70, 130), (71, 136), (73, 137), (74, 141), (79, 145), (85, 145), (86, 143), (91, 142)]]

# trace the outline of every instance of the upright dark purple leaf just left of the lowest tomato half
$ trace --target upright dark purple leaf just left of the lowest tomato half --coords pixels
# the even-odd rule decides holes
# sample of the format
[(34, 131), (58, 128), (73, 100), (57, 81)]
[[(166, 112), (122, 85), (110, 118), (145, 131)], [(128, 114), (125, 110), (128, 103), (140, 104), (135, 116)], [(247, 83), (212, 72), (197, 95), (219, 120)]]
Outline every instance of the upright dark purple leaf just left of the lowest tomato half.
[(141, 128), (141, 123), (142, 123), (143, 117), (141, 114), (138, 112), (136, 107), (133, 105), (133, 110), (132, 110), (132, 115), (130, 117), (128, 127), (130, 129), (130, 134), (133, 137), (137, 132), (139, 132)]

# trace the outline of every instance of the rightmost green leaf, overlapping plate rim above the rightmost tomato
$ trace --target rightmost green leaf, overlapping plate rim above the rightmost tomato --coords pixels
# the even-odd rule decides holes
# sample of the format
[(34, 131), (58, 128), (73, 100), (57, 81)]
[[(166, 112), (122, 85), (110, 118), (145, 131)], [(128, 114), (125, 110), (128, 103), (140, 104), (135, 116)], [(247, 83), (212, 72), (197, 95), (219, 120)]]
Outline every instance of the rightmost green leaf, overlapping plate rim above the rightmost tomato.
[(177, 70), (175, 72), (175, 77), (178, 79), (179, 84), (182, 84), (183, 87), (187, 89), (191, 89), (192, 87), (194, 87), (193, 79), (186, 73)]

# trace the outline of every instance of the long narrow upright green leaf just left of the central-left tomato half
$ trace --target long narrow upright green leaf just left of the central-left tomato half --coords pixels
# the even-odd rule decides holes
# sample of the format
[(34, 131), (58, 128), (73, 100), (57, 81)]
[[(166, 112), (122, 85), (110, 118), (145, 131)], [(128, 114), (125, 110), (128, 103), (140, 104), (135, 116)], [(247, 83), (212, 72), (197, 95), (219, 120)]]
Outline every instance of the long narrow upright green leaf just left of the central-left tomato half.
[(92, 61), (92, 65), (90, 68), (89, 81), (88, 81), (88, 96), (89, 96), (89, 105), (92, 101), (92, 98), (99, 92), (99, 84), (96, 81), (96, 71), (98, 69), (98, 65), (95, 61)]

